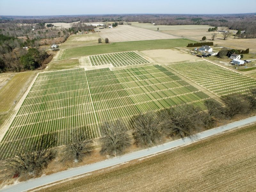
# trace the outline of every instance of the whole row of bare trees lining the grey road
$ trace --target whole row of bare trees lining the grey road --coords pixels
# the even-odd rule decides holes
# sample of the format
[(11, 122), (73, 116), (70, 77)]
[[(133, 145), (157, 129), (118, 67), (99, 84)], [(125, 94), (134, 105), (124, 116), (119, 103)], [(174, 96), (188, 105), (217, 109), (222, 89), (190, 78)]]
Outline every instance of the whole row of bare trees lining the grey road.
[[(107, 121), (101, 125), (100, 154), (123, 155), (132, 145), (132, 140), (137, 147), (150, 147), (163, 143), (165, 138), (196, 138), (196, 132), (212, 128), (221, 119), (231, 119), (237, 114), (255, 112), (256, 88), (251, 89), (247, 95), (223, 96), (222, 102), (224, 105), (215, 100), (206, 100), (204, 111), (185, 104), (178, 108), (133, 116), (129, 124), (133, 139), (122, 120)], [(95, 150), (95, 140), (86, 130), (87, 127), (71, 129), (62, 149), (54, 148), (57, 142), (55, 133), (38, 137), (32, 146), (26, 145), (24, 140), (16, 147), (14, 156), (2, 162), (1, 168), (9, 176), (36, 176), (56, 158), (58, 152), (61, 153), (60, 161), (69, 163), (90, 158)]]

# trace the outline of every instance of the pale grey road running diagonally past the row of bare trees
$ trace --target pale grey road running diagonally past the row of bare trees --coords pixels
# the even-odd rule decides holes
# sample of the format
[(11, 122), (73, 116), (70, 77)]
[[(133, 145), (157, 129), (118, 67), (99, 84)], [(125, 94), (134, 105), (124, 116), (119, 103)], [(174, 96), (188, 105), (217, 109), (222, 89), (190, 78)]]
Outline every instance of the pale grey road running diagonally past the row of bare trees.
[(88, 172), (97, 171), (97, 170), (115, 166), (118, 164), (123, 164), (125, 162), (129, 162), (134, 159), (139, 159), (142, 157), (154, 155), (154, 154), (166, 151), (166, 150), (170, 150), (172, 148), (178, 148), (181, 146), (189, 145), (196, 141), (203, 140), (203, 139), (209, 138), (211, 136), (214, 136), (216, 134), (220, 134), (220, 133), (232, 130), (234, 128), (238, 128), (238, 127), (241, 127), (241, 126), (244, 126), (247, 124), (251, 124), (254, 122), (256, 122), (256, 116), (252, 116), (252, 117), (249, 117), (249, 118), (246, 118), (246, 119), (243, 119), (240, 121), (236, 121), (236, 122), (233, 122), (233, 123), (230, 123), (227, 125), (223, 125), (223, 126), (220, 126), (220, 127), (214, 128), (214, 129), (210, 129), (210, 130), (207, 130), (207, 131), (204, 131), (201, 133), (197, 133), (196, 139), (194, 139), (194, 140), (191, 140), (187, 137), (184, 138), (184, 140), (182, 140), (182, 139), (174, 140), (174, 141), (171, 141), (168, 143), (164, 143), (163, 145), (136, 151), (136, 152), (129, 153), (129, 154), (126, 154), (121, 157), (115, 157), (115, 158), (108, 159), (105, 161), (101, 161), (101, 162), (97, 162), (97, 163), (93, 163), (93, 164), (89, 164), (89, 165), (84, 165), (81, 167), (71, 168), (66, 171), (54, 173), (52, 175), (47, 175), (47, 176), (43, 176), (40, 178), (36, 178), (36, 179), (28, 180), (25, 182), (21, 182), (18, 184), (14, 184), (14, 185), (8, 186), (6, 188), (0, 189), (0, 192), (27, 191), (29, 189), (37, 188), (37, 187), (44, 186), (44, 185), (49, 185), (51, 183), (66, 180), (68, 178), (76, 177), (76, 176), (79, 176), (79, 175), (82, 175), (82, 174), (85, 174)]

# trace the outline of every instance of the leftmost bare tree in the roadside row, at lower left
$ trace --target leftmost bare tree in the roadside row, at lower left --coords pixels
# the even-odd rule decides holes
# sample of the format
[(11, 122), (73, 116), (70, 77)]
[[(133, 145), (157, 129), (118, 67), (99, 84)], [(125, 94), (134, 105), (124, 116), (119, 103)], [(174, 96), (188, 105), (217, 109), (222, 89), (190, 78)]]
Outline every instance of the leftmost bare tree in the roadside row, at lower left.
[(55, 158), (57, 152), (52, 147), (55, 146), (56, 140), (56, 134), (47, 133), (42, 135), (31, 147), (22, 141), (20, 146), (16, 147), (14, 156), (4, 160), (2, 168), (10, 175), (29, 174), (34, 176)]

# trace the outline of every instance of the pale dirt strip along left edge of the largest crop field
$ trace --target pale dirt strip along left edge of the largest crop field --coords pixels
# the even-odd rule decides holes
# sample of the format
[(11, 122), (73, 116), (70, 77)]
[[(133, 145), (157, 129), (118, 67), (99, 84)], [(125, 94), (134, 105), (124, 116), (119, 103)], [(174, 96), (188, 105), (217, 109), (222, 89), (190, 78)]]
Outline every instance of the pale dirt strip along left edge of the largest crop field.
[(17, 105), (14, 107), (14, 109), (12, 110), (11, 115), (5, 120), (4, 124), (1, 126), (1, 131), (0, 131), (0, 143), (2, 142), (6, 132), (8, 131), (8, 129), (11, 127), (11, 124), (14, 120), (14, 118), (16, 117), (17, 113), (20, 110), (20, 107), (22, 105), (22, 103), (24, 102), (24, 100), (26, 99), (30, 89), (32, 88), (33, 84), (36, 82), (36, 78), (39, 75), (39, 73), (36, 74), (36, 76), (34, 77), (34, 79), (32, 80), (32, 82), (30, 83), (30, 85), (28, 86), (26, 92), (23, 94), (23, 96), (20, 98), (19, 102), (17, 103)]

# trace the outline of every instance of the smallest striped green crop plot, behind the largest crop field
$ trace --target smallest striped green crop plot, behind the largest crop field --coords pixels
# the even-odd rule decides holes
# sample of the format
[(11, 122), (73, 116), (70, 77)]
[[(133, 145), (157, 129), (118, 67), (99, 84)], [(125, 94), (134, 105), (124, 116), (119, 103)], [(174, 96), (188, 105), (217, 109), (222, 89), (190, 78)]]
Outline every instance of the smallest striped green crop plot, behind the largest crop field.
[(111, 64), (114, 67), (149, 63), (135, 52), (120, 52), (89, 56), (92, 66)]

